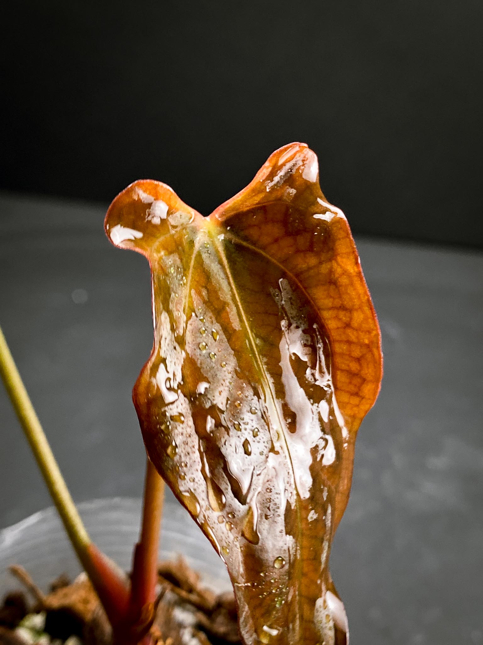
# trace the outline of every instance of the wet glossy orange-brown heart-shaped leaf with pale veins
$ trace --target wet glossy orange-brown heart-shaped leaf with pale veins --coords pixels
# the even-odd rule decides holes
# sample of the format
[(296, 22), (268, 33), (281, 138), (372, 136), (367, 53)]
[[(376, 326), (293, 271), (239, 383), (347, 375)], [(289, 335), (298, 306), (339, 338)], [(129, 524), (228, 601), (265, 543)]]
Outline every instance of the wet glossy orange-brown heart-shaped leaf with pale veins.
[(209, 217), (137, 181), (106, 232), (149, 260), (155, 342), (133, 399), (151, 461), (226, 562), (243, 641), (348, 642), (328, 557), (382, 357), (316, 155), (277, 150)]

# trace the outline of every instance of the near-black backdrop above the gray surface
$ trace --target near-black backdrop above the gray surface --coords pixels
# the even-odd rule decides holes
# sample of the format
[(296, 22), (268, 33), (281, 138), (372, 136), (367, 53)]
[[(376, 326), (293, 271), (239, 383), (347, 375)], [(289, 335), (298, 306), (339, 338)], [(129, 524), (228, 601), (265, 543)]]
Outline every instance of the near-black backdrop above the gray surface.
[(483, 246), (481, 0), (17, 0), (0, 188), (207, 215), (305, 141), (356, 233)]

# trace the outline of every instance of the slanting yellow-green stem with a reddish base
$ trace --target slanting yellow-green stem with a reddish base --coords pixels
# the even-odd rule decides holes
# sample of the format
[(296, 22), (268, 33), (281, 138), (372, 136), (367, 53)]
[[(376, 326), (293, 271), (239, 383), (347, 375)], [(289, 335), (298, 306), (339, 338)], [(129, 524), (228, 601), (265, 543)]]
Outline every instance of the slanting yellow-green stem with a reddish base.
[(108, 559), (91, 542), (62, 477), (61, 470), (55, 461), (39, 417), (33, 409), (32, 401), (30, 401), (17, 370), (1, 327), (0, 373), (75, 553), (77, 553), (95, 590), (99, 593), (102, 603), (105, 605), (105, 601), (108, 602), (109, 610), (106, 607), (106, 611), (108, 611), (109, 619), (113, 619), (114, 612), (120, 613), (126, 609), (127, 585), (113, 569)]

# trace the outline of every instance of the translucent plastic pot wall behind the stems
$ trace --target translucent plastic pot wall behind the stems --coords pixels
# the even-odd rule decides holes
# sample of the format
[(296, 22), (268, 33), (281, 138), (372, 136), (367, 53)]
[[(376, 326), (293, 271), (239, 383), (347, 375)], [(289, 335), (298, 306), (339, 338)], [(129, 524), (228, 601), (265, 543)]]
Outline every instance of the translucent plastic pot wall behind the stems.
[[(113, 498), (78, 506), (91, 539), (124, 570), (131, 568), (140, 527), (140, 499)], [(162, 520), (160, 560), (181, 554), (202, 575), (207, 586), (231, 588), (227, 571), (213, 547), (181, 506), (166, 504)], [(61, 573), (73, 579), (81, 571), (55, 508), (34, 513), (0, 531), (0, 595), (16, 588), (8, 566), (19, 564), (43, 590)]]

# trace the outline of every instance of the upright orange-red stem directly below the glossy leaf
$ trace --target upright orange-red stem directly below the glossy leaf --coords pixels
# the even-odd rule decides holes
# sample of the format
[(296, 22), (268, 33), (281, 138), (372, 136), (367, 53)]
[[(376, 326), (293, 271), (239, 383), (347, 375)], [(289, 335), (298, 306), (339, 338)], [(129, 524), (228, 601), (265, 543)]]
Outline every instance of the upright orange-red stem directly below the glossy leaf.
[(149, 458), (146, 459), (146, 479), (140, 540), (135, 548), (131, 584), (131, 608), (146, 611), (156, 600), (158, 575), (159, 534), (164, 503), (164, 481)]

